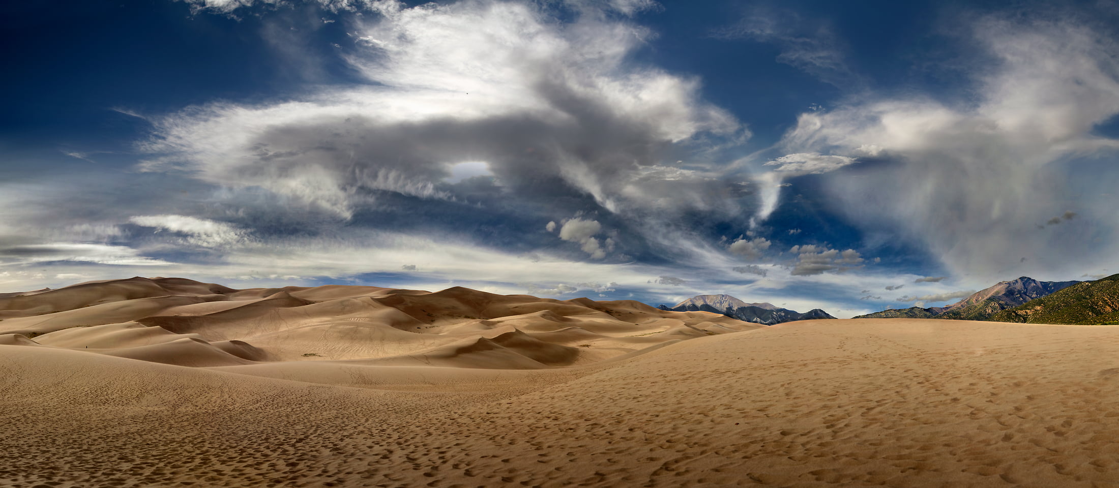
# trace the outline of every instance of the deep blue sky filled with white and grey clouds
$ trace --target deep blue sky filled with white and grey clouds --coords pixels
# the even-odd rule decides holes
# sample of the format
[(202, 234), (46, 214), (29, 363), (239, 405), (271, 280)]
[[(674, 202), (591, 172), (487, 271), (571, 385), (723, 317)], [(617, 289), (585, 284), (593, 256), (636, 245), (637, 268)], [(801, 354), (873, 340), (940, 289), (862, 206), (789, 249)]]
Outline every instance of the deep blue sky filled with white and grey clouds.
[(3, 7), (0, 292), (846, 318), (1119, 270), (1115, 1)]

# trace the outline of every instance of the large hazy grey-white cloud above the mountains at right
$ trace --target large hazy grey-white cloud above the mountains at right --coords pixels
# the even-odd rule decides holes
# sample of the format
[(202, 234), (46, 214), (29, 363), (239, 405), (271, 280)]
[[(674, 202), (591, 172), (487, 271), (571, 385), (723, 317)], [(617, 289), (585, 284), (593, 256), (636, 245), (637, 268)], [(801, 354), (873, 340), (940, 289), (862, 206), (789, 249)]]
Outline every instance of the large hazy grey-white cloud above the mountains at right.
[(1081, 219), (1036, 235), (1038, 222), (1053, 222), (1053, 201), (1081, 195), (1099, 194), (1078, 208), (1083, 222), (1113, 222), (1119, 201), (1099, 178), (1112, 165), (1074, 169), (1119, 149), (1093, 132), (1119, 114), (1111, 36), (1060, 16), (981, 17), (967, 30), (987, 56), (970, 74), (967, 103), (867, 93), (802, 113), (779, 147), (875, 158), (873, 170), (826, 173), (828, 201), (865, 232), (927, 248), (953, 274), (1071, 274), (1119, 253), (1115, 228)]

